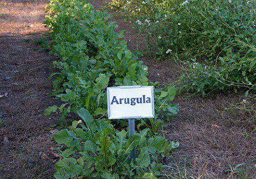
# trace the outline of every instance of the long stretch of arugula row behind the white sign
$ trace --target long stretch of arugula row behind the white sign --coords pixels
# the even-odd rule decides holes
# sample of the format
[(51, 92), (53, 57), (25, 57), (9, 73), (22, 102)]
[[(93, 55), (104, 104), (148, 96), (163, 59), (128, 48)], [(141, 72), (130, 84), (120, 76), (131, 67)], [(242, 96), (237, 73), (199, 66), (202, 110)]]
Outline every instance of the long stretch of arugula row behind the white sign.
[[(61, 73), (50, 76), (55, 78), (52, 95), (67, 103), (59, 108), (63, 117), (81, 107), (90, 111), (93, 117), (104, 115), (106, 87), (148, 85), (147, 66), (127, 50), (124, 39), (120, 40), (124, 32), (114, 31), (116, 25), (108, 23), (106, 12), (95, 12), (86, 1), (52, 1), (48, 12), (47, 25), (53, 30), (51, 53), (61, 57), (60, 61), (54, 62)], [(156, 91), (156, 97), (166, 98), (161, 89)], [(174, 96), (169, 97), (172, 99)], [(157, 103), (156, 108), (168, 108), (171, 113), (177, 113), (175, 104), (169, 105), (168, 101), (172, 100)], [(55, 109), (53, 111), (58, 110)], [(49, 107), (45, 114), (51, 111)]]

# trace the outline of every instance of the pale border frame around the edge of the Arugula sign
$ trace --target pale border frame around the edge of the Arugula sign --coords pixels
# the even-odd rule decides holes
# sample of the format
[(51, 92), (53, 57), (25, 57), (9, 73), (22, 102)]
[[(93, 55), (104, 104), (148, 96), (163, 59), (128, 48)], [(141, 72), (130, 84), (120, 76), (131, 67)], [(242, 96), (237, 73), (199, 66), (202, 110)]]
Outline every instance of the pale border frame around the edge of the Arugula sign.
[[(110, 103), (111, 103), (111, 99), (109, 99), (110, 95), (109, 95), (109, 89), (139, 89), (139, 88), (150, 88), (151, 89), (151, 102), (152, 102), (152, 116), (148, 116), (148, 117), (142, 117), (142, 116), (127, 116), (127, 117), (111, 117), (111, 108), (110, 108)], [(107, 96), (108, 96), (108, 118), (109, 119), (129, 119), (129, 118), (154, 118), (155, 117), (155, 104), (154, 104), (154, 87), (153, 86), (142, 86), (142, 85), (138, 85), (138, 86), (119, 86), (119, 87), (108, 87), (107, 88)]]

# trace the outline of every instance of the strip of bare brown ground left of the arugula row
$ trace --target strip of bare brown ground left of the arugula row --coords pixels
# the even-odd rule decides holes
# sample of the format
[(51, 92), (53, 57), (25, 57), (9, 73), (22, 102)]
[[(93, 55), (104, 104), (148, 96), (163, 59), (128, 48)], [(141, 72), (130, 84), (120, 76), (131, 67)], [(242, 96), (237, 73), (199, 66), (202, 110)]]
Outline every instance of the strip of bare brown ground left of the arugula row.
[(0, 178), (52, 178), (52, 57), (34, 50), (47, 1), (0, 1)]

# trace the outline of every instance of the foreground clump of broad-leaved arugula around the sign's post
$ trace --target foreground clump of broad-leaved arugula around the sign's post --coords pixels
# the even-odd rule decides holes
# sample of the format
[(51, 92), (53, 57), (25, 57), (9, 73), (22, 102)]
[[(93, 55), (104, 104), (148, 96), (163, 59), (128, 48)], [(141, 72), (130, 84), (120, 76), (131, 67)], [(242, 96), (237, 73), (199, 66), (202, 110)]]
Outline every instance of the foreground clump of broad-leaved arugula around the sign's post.
[[(67, 149), (56, 163), (56, 178), (128, 178), (161, 172), (166, 151), (170, 152), (179, 143), (168, 143), (163, 136), (152, 136), (150, 129), (129, 133), (117, 131), (108, 119), (95, 120), (88, 110), (77, 112), (84, 121), (74, 121), (70, 129), (54, 136)], [(79, 127), (78, 127), (79, 125)], [(136, 159), (130, 161), (129, 154), (136, 147)]]

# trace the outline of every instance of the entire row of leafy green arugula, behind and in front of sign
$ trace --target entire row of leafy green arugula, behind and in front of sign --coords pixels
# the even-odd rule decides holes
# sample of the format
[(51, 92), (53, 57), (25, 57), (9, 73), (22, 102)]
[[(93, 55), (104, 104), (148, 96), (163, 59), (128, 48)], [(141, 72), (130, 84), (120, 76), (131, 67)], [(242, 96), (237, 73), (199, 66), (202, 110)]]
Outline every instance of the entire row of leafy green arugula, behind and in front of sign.
[[(127, 178), (154, 176), (161, 171), (163, 157), (179, 143), (168, 143), (157, 134), (159, 117), (172, 117), (179, 110), (170, 104), (175, 88), (156, 89), (156, 118), (138, 126), (146, 128), (128, 139), (127, 132), (116, 130), (106, 118), (106, 87), (115, 85), (157, 85), (148, 82), (147, 66), (138, 61), (124, 39), (115, 32), (106, 12), (96, 11), (92, 4), (80, 0), (51, 1), (47, 8), (47, 25), (51, 30), (51, 53), (60, 59), (54, 66), (54, 91), (65, 104), (45, 110), (60, 110), (63, 117), (70, 111), (82, 120), (56, 134), (65, 145), (61, 161), (56, 164), (56, 178)], [(167, 112), (169, 111), (169, 112)], [(136, 159), (129, 152), (136, 147)], [(154, 174), (155, 173), (155, 174)]]

